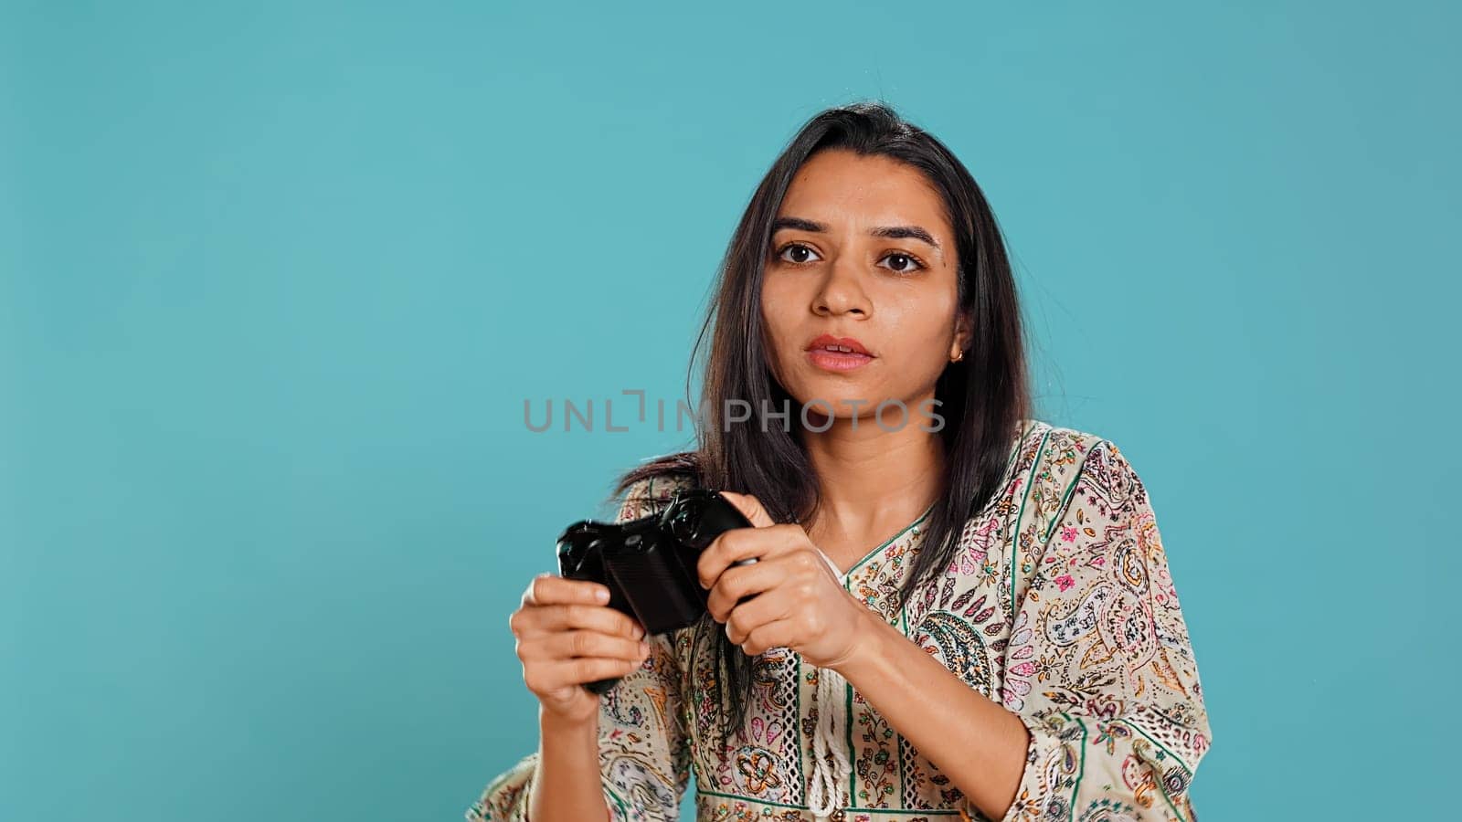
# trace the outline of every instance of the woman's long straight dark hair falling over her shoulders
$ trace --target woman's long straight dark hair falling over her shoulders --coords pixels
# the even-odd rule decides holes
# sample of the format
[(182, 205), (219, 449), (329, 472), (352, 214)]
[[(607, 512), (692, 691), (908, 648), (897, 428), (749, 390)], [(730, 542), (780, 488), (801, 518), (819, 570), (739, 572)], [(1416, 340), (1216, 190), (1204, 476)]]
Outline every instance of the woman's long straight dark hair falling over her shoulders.
[[(965, 165), (886, 102), (858, 102), (819, 113), (762, 178), (731, 237), (692, 354), (690, 374), (697, 363), (705, 374), (697, 405), (697, 448), (637, 465), (620, 477), (616, 493), (648, 477), (684, 475), (700, 487), (753, 494), (778, 522), (804, 522), (816, 509), (817, 477), (798, 439), (781, 426), (724, 424), (722, 415), (732, 399), (746, 401), (756, 410), (779, 410), (789, 399), (772, 376), (760, 312), (770, 225), (797, 170), (813, 154), (833, 148), (901, 161), (921, 171), (940, 193), (961, 266), (959, 310), (965, 312), (972, 331), (963, 360), (950, 363), (934, 386), (944, 420), (939, 431), (946, 455), (944, 493), (925, 519), (924, 547), (898, 591), (904, 603), (949, 566), (965, 522), (996, 494), (1018, 426), (1031, 412), (1031, 399), (1015, 278), (996, 216)], [(711, 350), (700, 363), (708, 332)], [(797, 402), (791, 407), (795, 417)], [(727, 723), (721, 733), (727, 739), (730, 728), (743, 725), (754, 698), (756, 660), (732, 645), (709, 614), (693, 630), (694, 648), (703, 639), (716, 644), (715, 670), (708, 679), (718, 683), (719, 715)], [(692, 660), (696, 658), (693, 652)]]

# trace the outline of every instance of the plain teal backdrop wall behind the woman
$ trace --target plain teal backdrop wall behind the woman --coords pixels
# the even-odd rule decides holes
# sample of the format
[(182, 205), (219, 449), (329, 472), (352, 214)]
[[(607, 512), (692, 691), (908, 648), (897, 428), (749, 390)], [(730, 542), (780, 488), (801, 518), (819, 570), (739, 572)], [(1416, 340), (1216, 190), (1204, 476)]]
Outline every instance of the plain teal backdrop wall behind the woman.
[(1200, 815), (1452, 802), (1456, 6), (0, 15), (0, 818), (461, 819), (553, 537), (686, 442), (523, 399), (681, 396), (760, 174), (877, 97), (1148, 483)]

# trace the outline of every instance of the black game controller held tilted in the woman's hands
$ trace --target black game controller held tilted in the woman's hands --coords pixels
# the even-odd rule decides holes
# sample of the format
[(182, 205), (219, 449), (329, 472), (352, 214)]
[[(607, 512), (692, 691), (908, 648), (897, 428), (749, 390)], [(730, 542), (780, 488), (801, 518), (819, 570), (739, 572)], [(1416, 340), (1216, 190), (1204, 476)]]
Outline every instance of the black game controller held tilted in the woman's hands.
[[(716, 491), (686, 489), (665, 510), (627, 522), (575, 522), (558, 537), (558, 573), (608, 587), (611, 608), (645, 626), (646, 635), (694, 625), (711, 592), (700, 587), (700, 551), (732, 528), (751, 522)], [(738, 560), (750, 565), (756, 559)], [(608, 693), (618, 679), (586, 683)]]

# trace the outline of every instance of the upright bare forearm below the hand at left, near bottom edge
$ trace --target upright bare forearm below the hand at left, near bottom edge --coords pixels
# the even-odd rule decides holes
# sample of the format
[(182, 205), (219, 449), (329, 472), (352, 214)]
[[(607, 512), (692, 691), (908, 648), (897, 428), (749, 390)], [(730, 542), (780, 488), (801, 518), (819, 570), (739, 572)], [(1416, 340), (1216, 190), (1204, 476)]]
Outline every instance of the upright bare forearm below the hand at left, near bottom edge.
[(610, 819), (599, 775), (598, 718), (567, 723), (538, 712), (538, 775), (528, 800), (532, 822)]

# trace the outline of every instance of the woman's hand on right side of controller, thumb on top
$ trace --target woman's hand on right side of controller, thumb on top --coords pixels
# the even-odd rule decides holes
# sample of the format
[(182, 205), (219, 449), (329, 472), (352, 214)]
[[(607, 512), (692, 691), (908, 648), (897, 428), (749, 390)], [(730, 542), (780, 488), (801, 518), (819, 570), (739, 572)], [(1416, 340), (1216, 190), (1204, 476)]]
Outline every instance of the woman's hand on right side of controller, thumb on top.
[[(868, 610), (838, 582), (801, 525), (775, 524), (750, 494), (721, 494), (754, 528), (732, 528), (700, 554), (696, 570), (711, 589), (711, 616), (749, 655), (785, 646), (820, 668), (846, 663)], [(731, 565), (747, 557), (757, 562)]]

